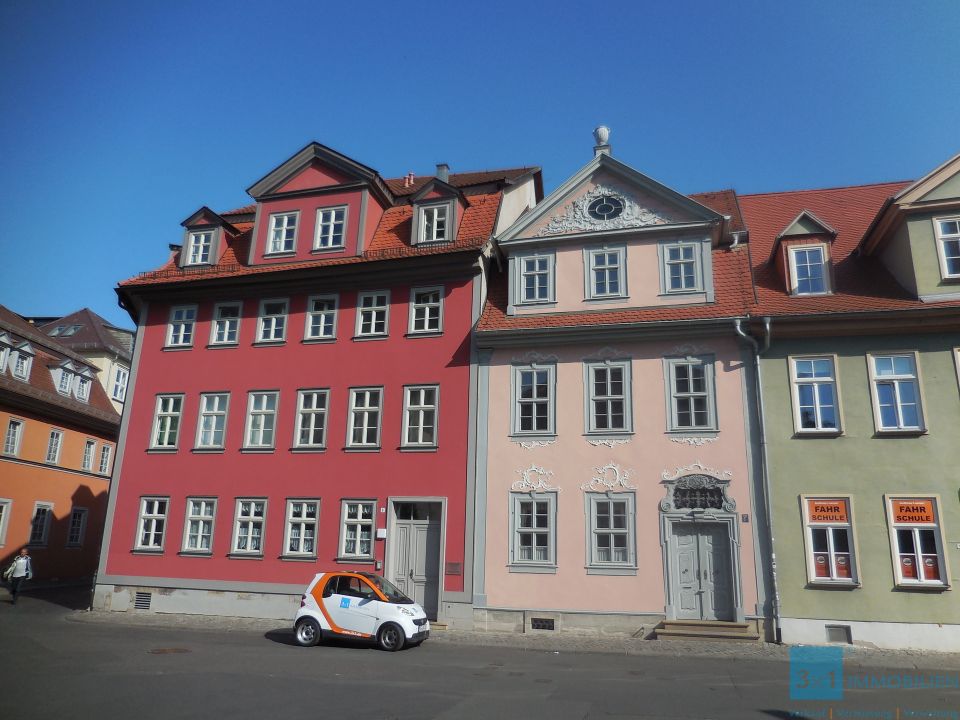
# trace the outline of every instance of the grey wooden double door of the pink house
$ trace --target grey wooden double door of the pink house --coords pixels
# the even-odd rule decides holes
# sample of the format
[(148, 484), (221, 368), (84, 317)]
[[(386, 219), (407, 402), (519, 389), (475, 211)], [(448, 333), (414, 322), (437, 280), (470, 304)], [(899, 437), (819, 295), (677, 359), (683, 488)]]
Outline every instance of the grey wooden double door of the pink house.
[(680, 620), (732, 620), (730, 538), (717, 523), (673, 526), (674, 605)]

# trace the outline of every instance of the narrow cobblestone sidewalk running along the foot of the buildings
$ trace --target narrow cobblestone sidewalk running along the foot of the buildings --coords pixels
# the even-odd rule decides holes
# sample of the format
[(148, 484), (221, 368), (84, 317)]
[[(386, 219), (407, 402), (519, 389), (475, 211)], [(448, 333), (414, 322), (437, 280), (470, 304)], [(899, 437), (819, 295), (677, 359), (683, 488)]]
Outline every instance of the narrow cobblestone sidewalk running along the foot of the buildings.
[[(283, 620), (258, 618), (226, 618), (209, 615), (165, 615), (159, 613), (111, 613), (75, 610), (67, 615), (71, 622), (105, 623), (135, 627), (183, 628), (200, 631), (267, 633), (292, 631)], [(733, 643), (687, 640), (641, 640), (623, 635), (577, 635), (494, 633), (435, 628), (430, 643), (503, 647), (533, 652), (615, 653), (631, 656), (716, 657), (731, 660), (770, 660), (786, 662), (790, 649), (768, 643)], [(863, 647), (846, 648), (846, 663), (852, 667), (890, 669), (957, 670), (960, 653), (932, 653), (919, 650), (878, 650)]]

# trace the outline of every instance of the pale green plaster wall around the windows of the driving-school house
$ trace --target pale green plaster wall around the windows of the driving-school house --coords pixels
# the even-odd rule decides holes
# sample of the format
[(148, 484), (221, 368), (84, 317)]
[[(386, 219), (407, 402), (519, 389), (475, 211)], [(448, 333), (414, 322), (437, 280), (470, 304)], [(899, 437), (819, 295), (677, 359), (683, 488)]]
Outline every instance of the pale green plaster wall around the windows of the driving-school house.
[[(776, 337), (776, 324), (774, 324)], [(952, 590), (898, 589), (884, 494), (938, 496), (946, 564), (960, 577), (960, 334), (804, 338), (774, 341), (763, 356), (771, 502), (785, 618), (960, 623)], [(928, 432), (876, 435), (866, 354), (919, 351)], [(794, 437), (788, 371), (792, 354), (836, 354), (843, 434)], [(807, 581), (800, 495), (850, 495), (860, 588)]]

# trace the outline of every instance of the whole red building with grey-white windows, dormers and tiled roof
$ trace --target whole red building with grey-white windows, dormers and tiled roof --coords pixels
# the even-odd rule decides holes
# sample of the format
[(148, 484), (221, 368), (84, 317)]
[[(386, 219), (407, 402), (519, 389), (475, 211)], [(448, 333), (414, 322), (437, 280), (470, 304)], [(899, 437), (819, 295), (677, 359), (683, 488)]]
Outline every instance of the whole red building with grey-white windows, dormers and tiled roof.
[(538, 169), (384, 180), (311, 144), (120, 284), (137, 322), (95, 603), (292, 617), (325, 569), (471, 597), (471, 331)]

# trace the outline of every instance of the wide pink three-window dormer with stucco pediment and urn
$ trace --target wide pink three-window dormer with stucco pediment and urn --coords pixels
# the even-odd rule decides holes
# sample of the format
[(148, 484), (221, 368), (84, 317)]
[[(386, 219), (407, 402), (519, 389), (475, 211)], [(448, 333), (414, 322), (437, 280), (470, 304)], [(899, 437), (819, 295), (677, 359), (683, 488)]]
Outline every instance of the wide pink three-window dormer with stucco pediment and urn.
[(712, 250), (729, 238), (730, 218), (613, 158), (605, 143), (595, 151), (498, 235), (507, 313), (713, 302)]

